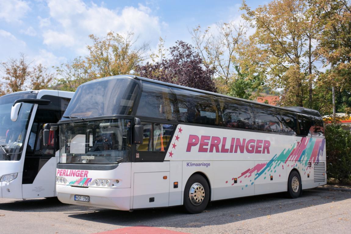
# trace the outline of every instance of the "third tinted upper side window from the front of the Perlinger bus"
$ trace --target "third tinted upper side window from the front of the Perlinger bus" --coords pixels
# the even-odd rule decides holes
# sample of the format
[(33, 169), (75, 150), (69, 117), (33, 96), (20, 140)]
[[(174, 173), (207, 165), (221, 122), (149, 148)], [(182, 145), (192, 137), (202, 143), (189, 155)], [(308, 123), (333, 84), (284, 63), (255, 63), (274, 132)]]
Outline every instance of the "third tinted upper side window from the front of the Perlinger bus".
[(252, 105), (247, 102), (219, 98), (223, 113), (223, 126), (254, 129)]

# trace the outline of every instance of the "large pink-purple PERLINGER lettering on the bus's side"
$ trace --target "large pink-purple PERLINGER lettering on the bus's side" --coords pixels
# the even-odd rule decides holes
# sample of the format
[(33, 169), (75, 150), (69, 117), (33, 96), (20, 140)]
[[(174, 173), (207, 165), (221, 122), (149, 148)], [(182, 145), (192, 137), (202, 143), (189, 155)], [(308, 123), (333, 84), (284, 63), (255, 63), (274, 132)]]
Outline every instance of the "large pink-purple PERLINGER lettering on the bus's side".
[(220, 138), (218, 136), (189, 135), (186, 152), (195, 151), (203, 153), (255, 153), (269, 154), (271, 142), (268, 140), (255, 140), (245, 138)]

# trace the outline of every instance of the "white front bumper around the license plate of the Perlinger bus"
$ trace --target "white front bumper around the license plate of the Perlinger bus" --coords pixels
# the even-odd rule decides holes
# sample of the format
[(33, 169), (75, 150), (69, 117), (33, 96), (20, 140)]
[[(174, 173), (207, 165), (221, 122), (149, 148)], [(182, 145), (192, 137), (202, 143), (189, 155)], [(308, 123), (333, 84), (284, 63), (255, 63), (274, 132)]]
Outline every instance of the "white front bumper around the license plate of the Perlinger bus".
[[(57, 198), (62, 203), (94, 206), (117, 210), (130, 210), (130, 188), (79, 188), (69, 185), (56, 185)], [(89, 201), (75, 201), (74, 195), (89, 196)]]

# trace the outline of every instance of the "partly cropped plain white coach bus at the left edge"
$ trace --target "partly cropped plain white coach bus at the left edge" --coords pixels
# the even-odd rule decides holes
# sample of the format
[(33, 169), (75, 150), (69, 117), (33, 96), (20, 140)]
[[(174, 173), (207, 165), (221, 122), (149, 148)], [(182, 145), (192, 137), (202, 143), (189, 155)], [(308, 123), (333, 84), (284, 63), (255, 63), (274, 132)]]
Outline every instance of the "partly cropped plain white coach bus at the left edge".
[(0, 198), (55, 196), (58, 131), (49, 132), (44, 144), (43, 126), (60, 120), (72, 96), (39, 90), (0, 97)]

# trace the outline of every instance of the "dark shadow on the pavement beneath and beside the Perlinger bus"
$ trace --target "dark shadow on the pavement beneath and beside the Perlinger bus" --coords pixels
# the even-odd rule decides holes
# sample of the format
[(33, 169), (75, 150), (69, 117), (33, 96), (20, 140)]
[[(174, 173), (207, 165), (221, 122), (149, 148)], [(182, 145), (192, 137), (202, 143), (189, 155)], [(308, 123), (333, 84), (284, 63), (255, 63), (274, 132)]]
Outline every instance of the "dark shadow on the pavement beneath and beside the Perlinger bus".
[[(223, 225), (350, 198), (351, 192), (309, 189), (304, 190), (302, 196), (297, 199), (287, 199), (284, 194), (276, 193), (216, 201), (212, 202), (200, 214), (187, 214), (183, 207), (134, 210), (133, 212), (93, 208), (89, 212), (68, 216), (120, 226), (204, 227)], [(212, 216), (217, 218), (211, 219)]]

